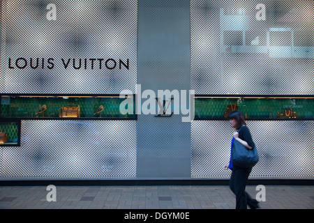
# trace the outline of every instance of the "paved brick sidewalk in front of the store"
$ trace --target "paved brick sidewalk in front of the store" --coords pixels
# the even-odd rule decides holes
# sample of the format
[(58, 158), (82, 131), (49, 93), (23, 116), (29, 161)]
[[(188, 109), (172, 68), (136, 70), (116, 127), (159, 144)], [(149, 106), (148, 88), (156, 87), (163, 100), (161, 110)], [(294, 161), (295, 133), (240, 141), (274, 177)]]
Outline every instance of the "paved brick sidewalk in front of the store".
[[(246, 186), (255, 197), (255, 186)], [(57, 186), (48, 202), (46, 187), (0, 187), (0, 208), (234, 208), (228, 186)], [(314, 208), (314, 186), (266, 186), (261, 208)]]

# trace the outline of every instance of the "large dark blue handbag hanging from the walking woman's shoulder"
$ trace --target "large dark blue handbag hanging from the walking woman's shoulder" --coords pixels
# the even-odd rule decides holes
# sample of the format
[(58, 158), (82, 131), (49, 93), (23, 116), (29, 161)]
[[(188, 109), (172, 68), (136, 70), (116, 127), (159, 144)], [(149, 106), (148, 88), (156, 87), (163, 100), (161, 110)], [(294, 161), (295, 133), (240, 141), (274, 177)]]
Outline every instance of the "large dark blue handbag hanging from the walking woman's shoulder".
[(258, 162), (258, 153), (256, 146), (253, 149), (248, 149), (243, 146), (239, 141), (234, 139), (231, 151), (231, 161), (239, 167), (251, 168)]

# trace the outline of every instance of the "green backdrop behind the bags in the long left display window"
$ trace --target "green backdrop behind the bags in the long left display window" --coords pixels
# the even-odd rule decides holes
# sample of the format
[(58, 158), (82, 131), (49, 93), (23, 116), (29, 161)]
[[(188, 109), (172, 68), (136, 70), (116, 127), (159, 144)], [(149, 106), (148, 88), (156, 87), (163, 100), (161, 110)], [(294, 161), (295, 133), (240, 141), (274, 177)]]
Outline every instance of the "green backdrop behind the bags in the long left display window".
[[(75, 107), (80, 106), (80, 117), (82, 118), (134, 118), (135, 98), (129, 98), (130, 105), (133, 105), (133, 114), (121, 114), (119, 107), (126, 98), (63, 98), (63, 97), (2, 97), (1, 117), (2, 118), (58, 118), (59, 109), (73, 103)], [(46, 105), (45, 112), (37, 114), (40, 108)], [(103, 105), (103, 112), (94, 115), (100, 105)], [(70, 105), (73, 107), (73, 105)], [(128, 109), (128, 105), (126, 105)]]

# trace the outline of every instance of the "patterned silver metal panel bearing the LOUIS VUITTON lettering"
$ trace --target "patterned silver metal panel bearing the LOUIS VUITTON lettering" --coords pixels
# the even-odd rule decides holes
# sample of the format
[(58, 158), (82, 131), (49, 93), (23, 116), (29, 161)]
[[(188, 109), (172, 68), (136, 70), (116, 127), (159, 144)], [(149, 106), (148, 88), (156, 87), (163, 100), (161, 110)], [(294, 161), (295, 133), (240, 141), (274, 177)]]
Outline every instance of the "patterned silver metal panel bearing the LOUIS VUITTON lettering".
[[(57, 7), (57, 20), (47, 20), (49, 3)], [(136, 93), (136, 0), (4, 0), (1, 6), (0, 93)], [(24, 69), (20, 58), (27, 60)], [(73, 59), (77, 68), (82, 59), (80, 69)], [(101, 69), (98, 59), (104, 59)], [(105, 68), (107, 59), (116, 68), (112, 60), (107, 66), (114, 69)], [(128, 69), (122, 63), (119, 68), (120, 59), (129, 61)]]

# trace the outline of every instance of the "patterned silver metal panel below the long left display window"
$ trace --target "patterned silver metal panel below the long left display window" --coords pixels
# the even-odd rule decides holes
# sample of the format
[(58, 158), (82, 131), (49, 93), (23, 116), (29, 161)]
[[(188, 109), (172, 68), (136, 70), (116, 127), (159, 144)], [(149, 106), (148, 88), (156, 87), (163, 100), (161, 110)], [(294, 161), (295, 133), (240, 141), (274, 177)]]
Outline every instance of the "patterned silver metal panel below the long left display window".
[(136, 121), (22, 121), (0, 179), (136, 177)]

